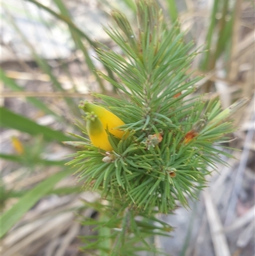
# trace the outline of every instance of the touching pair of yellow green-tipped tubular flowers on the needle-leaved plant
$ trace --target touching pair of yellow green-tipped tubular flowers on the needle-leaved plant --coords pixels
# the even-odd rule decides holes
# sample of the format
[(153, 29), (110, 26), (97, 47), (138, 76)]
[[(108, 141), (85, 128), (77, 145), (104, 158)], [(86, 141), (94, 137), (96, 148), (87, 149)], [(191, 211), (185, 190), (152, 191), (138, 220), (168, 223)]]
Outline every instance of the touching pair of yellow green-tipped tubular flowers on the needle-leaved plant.
[(87, 114), (86, 127), (92, 144), (105, 151), (111, 151), (113, 148), (108, 140), (106, 130), (121, 139), (124, 131), (118, 130), (116, 127), (125, 123), (115, 114), (98, 105), (85, 101), (80, 103), (79, 107)]

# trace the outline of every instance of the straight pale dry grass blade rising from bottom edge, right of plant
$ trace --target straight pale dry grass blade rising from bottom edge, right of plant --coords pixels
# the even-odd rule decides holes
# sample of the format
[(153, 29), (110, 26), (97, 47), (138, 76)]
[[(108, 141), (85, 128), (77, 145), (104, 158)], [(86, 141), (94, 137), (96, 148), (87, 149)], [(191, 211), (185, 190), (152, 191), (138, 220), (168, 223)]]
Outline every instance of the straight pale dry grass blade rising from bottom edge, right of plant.
[(203, 198), (205, 200), (205, 208), (210, 226), (212, 243), (214, 244), (215, 256), (231, 256), (230, 249), (228, 248), (228, 242), (223, 232), (221, 219), (217, 213), (217, 207), (212, 201), (212, 197), (208, 189), (203, 192)]

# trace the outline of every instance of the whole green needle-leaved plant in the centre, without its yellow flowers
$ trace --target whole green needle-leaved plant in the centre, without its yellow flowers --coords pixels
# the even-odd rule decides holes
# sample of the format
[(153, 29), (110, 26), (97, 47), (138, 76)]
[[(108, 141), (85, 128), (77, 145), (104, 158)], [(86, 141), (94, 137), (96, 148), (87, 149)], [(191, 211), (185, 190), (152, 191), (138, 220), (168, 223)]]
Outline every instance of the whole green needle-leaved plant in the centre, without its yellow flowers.
[[(244, 104), (221, 112), (217, 100), (190, 97), (200, 80), (186, 74), (198, 54), (191, 52), (193, 42), (184, 43), (178, 23), (170, 28), (164, 24), (155, 1), (136, 1), (136, 8), (137, 33), (117, 10), (112, 11), (117, 27), (105, 29), (122, 53), (105, 45), (97, 49), (99, 60), (117, 75), (118, 82), (98, 73), (117, 87), (120, 98), (93, 94), (126, 123), (120, 127), (126, 133), (120, 140), (108, 133), (110, 152), (86, 139), (68, 142), (80, 148), (68, 165), (77, 169), (85, 189), (98, 191), (106, 200), (106, 205), (92, 206), (108, 218), (84, 224), (110, 230), (104, 236), (99, 232), (85, 237), (85, 249), (97, 248), (106, 255), (154, 251), (147, 237), (164, 235), (165, 230), (162, 226), (149, 230), (149, 223), (159, 221), (156, 213), (171, 213), (177, 202), (188, 207), (187, 197), (196, 199), (196, 192), (206, 186), (208, 167), (215, 169), (221, 155), (228, 155), (217, 144), (228, 139), (226, 134), (233, 131), (228, 117)], [(78, 126), (87, 134), (83, 124)], [(137, 216), (146, 223), (144, 229)], [(102, 244), (106, 240), (110, 240), (108, 247)]]

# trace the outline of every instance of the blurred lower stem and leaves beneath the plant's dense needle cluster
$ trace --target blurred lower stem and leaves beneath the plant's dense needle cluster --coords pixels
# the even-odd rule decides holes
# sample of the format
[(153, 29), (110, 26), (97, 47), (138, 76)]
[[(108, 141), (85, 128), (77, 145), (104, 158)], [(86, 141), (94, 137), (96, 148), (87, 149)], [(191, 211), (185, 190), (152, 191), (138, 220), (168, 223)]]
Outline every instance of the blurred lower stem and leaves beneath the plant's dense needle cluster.
[(100, 204), (98, 202), (87, 203), (102, 216), (94, 220), (87, 218), (83, 225), (95, 225), (98, 236), (85, 236), (82, 240), (85, 252), (97, 248), (100, 255), (138, 255), (141, 251), (156, 253), (153, 243), (149, 243), (148, 237), (170, 236), (172, 228), (168, 223), (158, 220), (154, 216), (148, 218), (147, 213), (129, 210), (122, 202), (112, 204)]

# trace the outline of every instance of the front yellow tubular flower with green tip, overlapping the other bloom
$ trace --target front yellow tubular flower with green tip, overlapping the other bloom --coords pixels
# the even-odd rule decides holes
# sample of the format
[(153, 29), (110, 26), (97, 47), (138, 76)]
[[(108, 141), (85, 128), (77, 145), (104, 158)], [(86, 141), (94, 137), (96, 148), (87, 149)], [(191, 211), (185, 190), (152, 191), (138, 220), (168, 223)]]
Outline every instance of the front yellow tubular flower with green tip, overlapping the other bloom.
[(87, 132), (89, 133), (89, 138), (91, 139), (91, 143), (99, 147), (100, 149), (104, 149), (105, 151), (111, 151), (113, 148), (108, 140), (108, 134), (103, 127), (103, 124), (98, 119), (96, 114), (88, 113), (86, 117), (87, 121)]

